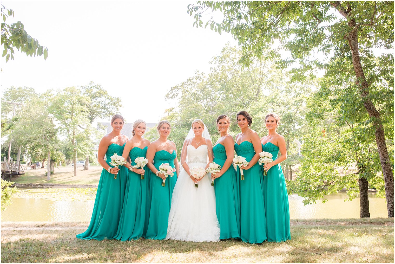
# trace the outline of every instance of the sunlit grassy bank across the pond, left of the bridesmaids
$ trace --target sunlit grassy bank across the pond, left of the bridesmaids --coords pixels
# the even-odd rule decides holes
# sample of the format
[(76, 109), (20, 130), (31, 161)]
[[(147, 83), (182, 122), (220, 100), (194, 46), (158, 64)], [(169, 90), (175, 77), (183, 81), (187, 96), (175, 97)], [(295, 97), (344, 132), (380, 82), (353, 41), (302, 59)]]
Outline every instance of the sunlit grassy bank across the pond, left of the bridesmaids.
[(102, 166), (89, 166), (89, 170), (77, 168), (77, 176), (73, 176), (73, 168), (71, 166), (55, 168), (55, 173), (51, 175), (51, 179), (47, 181), (47, 169), (27, 170), (24, 175), (12, 177), (15, 183), (53, 183), (53, 184), (72, 184), (72, 185), (98, 185)]

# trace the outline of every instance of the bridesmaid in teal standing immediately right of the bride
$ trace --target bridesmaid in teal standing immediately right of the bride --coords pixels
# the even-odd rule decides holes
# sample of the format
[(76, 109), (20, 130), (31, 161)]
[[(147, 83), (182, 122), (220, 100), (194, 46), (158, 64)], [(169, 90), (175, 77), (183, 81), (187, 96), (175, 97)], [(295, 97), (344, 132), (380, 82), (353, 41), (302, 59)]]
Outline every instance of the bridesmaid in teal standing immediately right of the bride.
[(217, 128), (220, 138), (213, 148), (214, 162), (221, 166), (220, 172), (212, 173), (218, 222), (221, 227), (220, 239), (240, 238), (240, 212), (236, 181), (236, 171), (232, 166), (235, 141), (229, 134), (229, 117), (220, 115)]

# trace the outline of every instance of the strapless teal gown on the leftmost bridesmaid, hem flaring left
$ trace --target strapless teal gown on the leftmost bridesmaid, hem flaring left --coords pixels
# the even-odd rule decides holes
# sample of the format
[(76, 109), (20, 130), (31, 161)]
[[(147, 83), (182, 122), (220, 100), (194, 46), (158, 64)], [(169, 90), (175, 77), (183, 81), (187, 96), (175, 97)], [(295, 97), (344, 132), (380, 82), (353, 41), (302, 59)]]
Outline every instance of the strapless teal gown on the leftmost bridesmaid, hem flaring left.
[[(125, 144), (120, 146), (115, 143), (108, 146), (107, 153), (105, 153), (107, 164), (111, 162), (111, 156), (114, 153), (122, 156), (124, 146)], [(96, 240), (103, 240), (105, 238), (113, 239), (115, 234), (117, 234), (127, 175), (128, 169), (124, 166), (119, 166), (117, 179), (114, 179), (114, 174), (107, 172), (103, 168), (89, 227), (87, 231), (78, 234), (76, 236), (77, 238)]]

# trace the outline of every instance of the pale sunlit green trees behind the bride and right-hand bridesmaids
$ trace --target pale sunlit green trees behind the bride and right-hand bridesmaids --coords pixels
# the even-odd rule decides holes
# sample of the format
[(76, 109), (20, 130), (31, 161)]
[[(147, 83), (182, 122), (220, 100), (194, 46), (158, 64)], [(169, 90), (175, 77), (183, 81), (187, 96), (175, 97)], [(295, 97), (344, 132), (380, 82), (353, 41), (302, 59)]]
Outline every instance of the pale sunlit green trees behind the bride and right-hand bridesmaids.
[[(303, 102), (310, 87), (300, 83), (290, 84), (290, 76), (286, 72), (280, 72), (264, 60), (255, 59), (249, 69), (243, 69), (237, 63), (240, 56), (239, 49), (226, 45), (213, 58), (209, 74), (196, 72), (166, 94), (167, 99), (177, 100), (177, 107), (167, 109), (163, 117), (177, 128), (169, 136), (177, 144), (177, 153), (180, 154), (194, 119), (203, 119), (215, 143), (219, 138), (216, 117), (228, 115), (231, 119), (230, 133), (235, 136), (239, 131), (236, 114), (241, 110), (252, 115), (252, 129), (260, 136), (267, 133), (264, 118), (272, 111), (284, 116), (279, 132), (283, 133), (286, 140), (293, 142), (295, 138), (301, 137), (297, 130), (303, 126)], [(297, 113), (297, 117), (287, 117), (290, 113)], [(147, 138), (157, 137), (156, 131), (148, 134)]]

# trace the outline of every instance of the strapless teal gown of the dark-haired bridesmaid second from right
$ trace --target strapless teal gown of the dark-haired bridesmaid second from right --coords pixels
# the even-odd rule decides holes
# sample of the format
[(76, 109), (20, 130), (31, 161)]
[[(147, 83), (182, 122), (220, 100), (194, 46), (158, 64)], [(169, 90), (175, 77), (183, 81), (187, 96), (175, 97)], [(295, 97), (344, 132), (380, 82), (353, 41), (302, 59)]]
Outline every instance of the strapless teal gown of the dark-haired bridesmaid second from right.
[[(248, 162), (254, 157), (255, 150), (251, 142), (243, 141), (235, 144), (237, 155), (245, 157)], [(237, 167), (237, 182), (240, 196), (240, 235), (247, 243), (262, 243), (267, 239), (265, 202), (263, 200), (263, 177), (258, 162), (250, 169), (243, 170), (244, 180), (240, 180), (240, 169)]]

